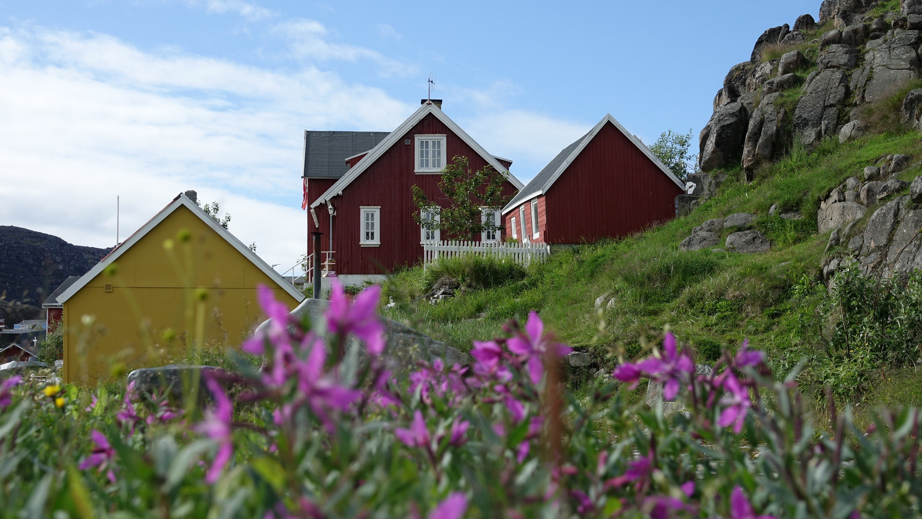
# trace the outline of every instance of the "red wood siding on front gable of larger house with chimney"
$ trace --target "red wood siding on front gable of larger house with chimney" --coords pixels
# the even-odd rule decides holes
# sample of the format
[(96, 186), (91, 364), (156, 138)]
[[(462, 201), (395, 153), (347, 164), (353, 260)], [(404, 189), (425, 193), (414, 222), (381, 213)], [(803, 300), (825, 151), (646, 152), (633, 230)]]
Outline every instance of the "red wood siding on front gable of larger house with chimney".
[[(438, 188), (440, 174), (414, 173), (414, 136), (418, 134), (446, 136), (445, 163), (455, 156), (465, 156), (473, 171), (487, 165), (487, 161), (467, 146), (461, 137), (456, 136), (434, 115), (426, 115), (420, 123), (397, 139), (396, 144), (385, 151), (384, 155), (362, 171), (343, 190), (343, 195), (333, 198), (333, 204), (337, 207), (333, 232), (338, 273), (382, 274), (382, 268), (393, 271), (396, 265), (414, 265), (422, 259), (420, 226), (413, 220), (418, 209), (413, 205), (410, 188), (414, 184), (419, 185), (436, 203), (447, 206), (448, 202)], [(404, 144), (405, 139), (409, 139), (410, 144)], [(514, 185), (506, 181), (503, 184), (503, 195), (511, 196), (514, 193)], [(381, 245), (378, 247), (359, 245), (361, 206), (381, 206)], [(317, 212), (319, 216), (320, 211)], [(321, 231), (325, 232), (323, 229)], [(448, 237), (443, 235), (443, 239)], [(475, 240), (479, 240), (479, 236)]]

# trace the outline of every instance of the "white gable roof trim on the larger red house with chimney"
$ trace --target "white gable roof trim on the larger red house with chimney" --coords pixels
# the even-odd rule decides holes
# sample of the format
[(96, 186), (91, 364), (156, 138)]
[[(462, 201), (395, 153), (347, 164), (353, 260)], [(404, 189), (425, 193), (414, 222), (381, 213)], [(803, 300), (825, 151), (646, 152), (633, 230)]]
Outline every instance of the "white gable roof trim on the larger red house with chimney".
[(522, 189), (525, 187), (524, 183), (515, 178), (514, 175), (509, 172), (509, 170), (502, 167), (502, 164), (500, 164), (497, 159), (495, 159), (491, 154), (487, 153), (487, 150), (481, 147), (477, 141), (468, 136), (467, 133), (461, 129), (461, 126), (455, 124), (455, 121), (452, 121), (451, 118), (445, 115), (439, 107), (435, 106), (434, 104), (424, 104), (420, 106), (419, 110), (413, 112), (413, 114), (410, 115), (409, 118), (403, 122), (403, 124), (397, 126), (396, 130), (391, 132), (390, 135), (384, 137), (384, 140), (378, 143), (378, 146), (373, 147), (372, 150), (368, 152), (368, 155), (362, 157), (355, 166), (353, 166), (349, 171), (346, 171), (346, 174), (343, 175), (342, 178), (337, 181), (337, 183), (334, 183), (332, 186), (330, 186), (329, 189), (326, 190), (323, 195), (320, 195), (319, 198), (314, 200), (313, 204), (311, 204), (311, 207), (325, 204), (330, 198), (333, 198), (337, 195), (342, 195), (343, 189), (345, 189), (346, 186), (357, 179), (363, 171), (367, 170), (369, 166), (374, 163), (375, 160), (381, 158), (385, 151), (394, 146), (397, 141), (404, 136), (404, 134), (406, 134), (413, 126), (419, 123), (423, 117), (430, 113), (434, 115), (439, 121), (442, 121), (444, 125), (448, 126), (448, 129), (454, 132), (456, 136), (461, 137), (461, 140), (463, 140), (467, 146), (474, 148), (474, 151), (476, 151), (482, 159), (486, 160), (494, 170), (499, 171), (502, 176), (506, 178), (506, 180), (512, 183), (515, 186), (515, 189)]

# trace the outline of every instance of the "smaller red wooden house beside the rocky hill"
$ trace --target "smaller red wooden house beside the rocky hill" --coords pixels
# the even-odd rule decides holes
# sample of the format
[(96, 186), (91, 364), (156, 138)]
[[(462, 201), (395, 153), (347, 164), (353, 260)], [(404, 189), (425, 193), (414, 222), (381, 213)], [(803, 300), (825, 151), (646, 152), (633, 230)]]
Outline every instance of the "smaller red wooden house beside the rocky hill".
[(524, 242), (597, 242), (674, 218), (684, 192), (685, 184), (607, 114), (503, 207), (503, 225)]

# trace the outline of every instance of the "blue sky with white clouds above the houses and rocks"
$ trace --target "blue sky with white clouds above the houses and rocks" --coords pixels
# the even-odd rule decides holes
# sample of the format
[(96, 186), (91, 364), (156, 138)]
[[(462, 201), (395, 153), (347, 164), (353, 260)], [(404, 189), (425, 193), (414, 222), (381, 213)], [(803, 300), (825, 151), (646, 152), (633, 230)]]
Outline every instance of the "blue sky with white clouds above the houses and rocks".
[[(114, 242), (196, 189), (270, 264), (304, 247), (301, 132), (426, 95), (527, 182), (606, 113), (697, 133), (774, 2), (0, 1), (0, 224)], [(12, 202), (9, 202), (11, 201)]]

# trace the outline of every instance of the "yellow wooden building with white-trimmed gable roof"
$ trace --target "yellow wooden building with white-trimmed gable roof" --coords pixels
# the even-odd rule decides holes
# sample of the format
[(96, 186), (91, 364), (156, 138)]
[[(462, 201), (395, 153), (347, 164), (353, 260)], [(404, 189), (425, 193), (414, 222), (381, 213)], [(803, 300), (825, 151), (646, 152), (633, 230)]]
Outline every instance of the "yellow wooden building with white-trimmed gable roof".
[(194, 344), (239, 345), (263, 319), (259, 284), (290, 308), (303, 300), (194, 200), (177, 196), (58, 297), (65, 382), (160, 365)]

